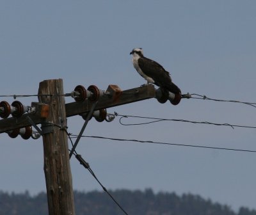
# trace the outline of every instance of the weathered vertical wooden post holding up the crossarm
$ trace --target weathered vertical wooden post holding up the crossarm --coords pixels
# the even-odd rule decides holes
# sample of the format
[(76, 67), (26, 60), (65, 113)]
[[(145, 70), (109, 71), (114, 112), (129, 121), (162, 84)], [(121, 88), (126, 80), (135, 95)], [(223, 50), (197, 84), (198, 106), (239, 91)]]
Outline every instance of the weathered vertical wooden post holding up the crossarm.
[(49, 104), (49, 116), (42, 122), (47, 201), (49, 215), (75, 215), (65, 131), (65, 99), (60, 95), (63, 95), (62, 79), (45, 80), (39, 84), (38, 100)]

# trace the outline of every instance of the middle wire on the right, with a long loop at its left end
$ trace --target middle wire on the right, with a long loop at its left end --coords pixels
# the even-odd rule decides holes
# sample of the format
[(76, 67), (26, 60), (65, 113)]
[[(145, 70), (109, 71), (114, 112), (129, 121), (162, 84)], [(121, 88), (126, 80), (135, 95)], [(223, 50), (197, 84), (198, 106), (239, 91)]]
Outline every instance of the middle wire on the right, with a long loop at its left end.
[[(190, 120), (180, 120), (180, 119), (167, 119), (167, 118), (154, 118), (154, 117), (147, 117), (147, 116), (132, 116), (132, 115), (120, 115), (118, 113), (115, 113), (115, 116), (121, 116), (119, 119), (119, 123), (121, 125), (145, 125), (145, 124), (150, 124), (150, 123), (155, 123), (155, 122), (163, 122), (163, 121), (174, 121), (174, 122), (189, 122), (189, 123), (195, 123), (195, 124), (207, 124), (207, 125), (219, 125), (219, 126), (229, 126), (234, 129), (234, 127), (243, 127), (247, 129), (256, 129), (254, 126), (248, 126), (248, 125), (232, 125), (230, 123), (212, 123), (212, 122), (198, 122), (198, 121), (190, 121)], [(149, 119), (153, 120), (150, 122), (142, 122), (142, 123), (123, 123), (122, 119), (123, 118), (143, 118), (143, 119)]]

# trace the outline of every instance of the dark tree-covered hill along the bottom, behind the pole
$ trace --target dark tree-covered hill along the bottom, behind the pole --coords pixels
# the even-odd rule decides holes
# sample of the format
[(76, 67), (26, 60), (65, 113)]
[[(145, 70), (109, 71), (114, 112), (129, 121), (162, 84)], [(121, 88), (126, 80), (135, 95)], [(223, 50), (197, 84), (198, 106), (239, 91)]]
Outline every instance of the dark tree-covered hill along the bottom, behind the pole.
[[(256, 215), (241, 207), (234, 212), (227, 205), (212, 203), (198, 195), (175, 193), (154, 194), (151, 189), (145, 191), (116, 190), (111, 195), (133, 215)], [(106, 193), (75, 191), (77, 215), (120, 215), (124, 214)], [(47, 197), (45, 193), (36, 196), (25, 193), (4, 193), (0, 191), (0, 215), (47, 215)]]

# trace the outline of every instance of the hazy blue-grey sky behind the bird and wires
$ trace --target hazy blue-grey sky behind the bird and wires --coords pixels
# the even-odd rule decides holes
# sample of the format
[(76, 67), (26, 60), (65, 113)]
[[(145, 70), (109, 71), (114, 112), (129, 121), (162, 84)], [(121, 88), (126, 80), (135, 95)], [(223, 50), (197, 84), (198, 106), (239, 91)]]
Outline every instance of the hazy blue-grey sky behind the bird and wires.
[[(256, 1), (1, 1), (0, 95), (36, 94), (40, 81), (63, 79), (64, 92), (78, 84), (123, 90), (145, 81), (129, 52), (168, 70), (182, 93), (214, 99), (256, 102)], [(3, 97), (12, 103), (12, 97)], [(23, 104), (37, 97), (19, 98)], [(73, 102), (66, 98), (66, 102)], [(252, 106), (182, 99), (178, 106), (156, 99), (108, 109), (123, 115), (174, 118), (255, 126)], [(83, 119), (68, 118), (78, 134)], [(124, 122), (144, 120), (129, 118)], [(86, 135), (166, 143), (256, 150), (255, 129), (182, 122), (123, 126), (88, 123)], [(35, 195), (45, 191), (42, 138), (0, 135), (0, 189)], [(77, 147), (108, 189), (145, 189), (193, 193), (227, 203), (232, 209), (255, 207), (256, 154), (203, 148), (82, 138)], [(74, 157), (74, 189), (100, 189)]]

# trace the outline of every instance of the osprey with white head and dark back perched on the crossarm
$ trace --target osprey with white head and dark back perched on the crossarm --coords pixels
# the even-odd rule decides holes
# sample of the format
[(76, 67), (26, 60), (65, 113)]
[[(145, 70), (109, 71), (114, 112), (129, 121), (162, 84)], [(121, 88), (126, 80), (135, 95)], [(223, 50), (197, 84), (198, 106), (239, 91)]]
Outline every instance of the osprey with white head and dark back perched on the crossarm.
[(156, 84), (161, 90), (180, 94), (180, 89), (172, 83), (169, 72), (156, 61), (145, 58), (141, 48), (132, 49), (130, 54), (134, 68), (147, 80), (147, 83)]

